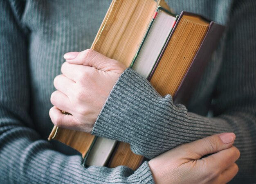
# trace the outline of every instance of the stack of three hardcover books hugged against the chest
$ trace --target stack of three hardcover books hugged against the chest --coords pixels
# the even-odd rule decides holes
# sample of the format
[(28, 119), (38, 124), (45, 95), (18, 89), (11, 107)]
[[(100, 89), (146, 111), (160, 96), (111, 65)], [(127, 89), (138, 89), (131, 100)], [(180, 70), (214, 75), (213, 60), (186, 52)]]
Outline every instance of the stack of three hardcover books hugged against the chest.
[[(224, 26), (164, 0), (112, 0), (91, 49), (134, 69), (162, 96), (186, 105), (216, 48)], [(137, 169), (143, 156), (130, 145), (54, 126), (55, 139), (81, 152), (85, 164)]]

